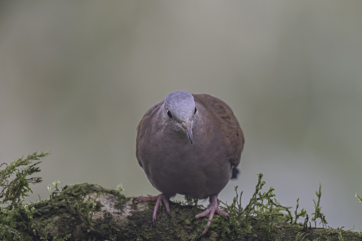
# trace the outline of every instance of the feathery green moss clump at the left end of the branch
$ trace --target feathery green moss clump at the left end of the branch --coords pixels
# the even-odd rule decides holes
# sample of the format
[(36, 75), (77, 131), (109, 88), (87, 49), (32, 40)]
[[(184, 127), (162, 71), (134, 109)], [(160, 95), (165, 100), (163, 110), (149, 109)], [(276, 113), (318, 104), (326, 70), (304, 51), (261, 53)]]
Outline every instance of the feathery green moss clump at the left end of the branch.
[[(47, 239), (52, 223), (42, 226), (34, 217), (55, 208), (49, 207), (49, 202), (45, 201), (23, 204), (24, 198), (33, 192), (30, 184), (42, 181), (41, 177), (30, 176), (41, 171), (38, 164), (47, 155), (49, 152), (34, 152), (0, 169), (0, 186), (3, 188), (0, 193), (0, 240), (34, 240), (34, 234), (38, 239)], [(35, 205), (41, 206), (41, 209), (36, 210)], [(64, 235), (58, 238), (55, 235), (52, 240), (66, 240), (68, 237)]]

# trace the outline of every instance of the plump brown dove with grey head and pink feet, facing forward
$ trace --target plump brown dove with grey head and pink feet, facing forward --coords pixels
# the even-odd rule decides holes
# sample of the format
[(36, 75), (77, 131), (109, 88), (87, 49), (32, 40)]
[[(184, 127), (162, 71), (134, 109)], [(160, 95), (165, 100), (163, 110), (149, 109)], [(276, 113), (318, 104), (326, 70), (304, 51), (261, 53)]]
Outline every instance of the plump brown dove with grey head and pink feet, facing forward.
[[(238, 171), (244, 134), (231, 108), (209, 94), (174, 91), (153, 105), (137, 126), (136, 158), (159, 195), (137, 196), (133, 202), (161, 202), (171, 216), (169, 199), (176, 194), (209, 198), (207, 209), (193, 221), (214, 214), (229, 217), (218, 206), (218, 194)], [(202, 232), (203, 236), (207, 228)], [(200, 236), (200, 237), (201, 237)]]

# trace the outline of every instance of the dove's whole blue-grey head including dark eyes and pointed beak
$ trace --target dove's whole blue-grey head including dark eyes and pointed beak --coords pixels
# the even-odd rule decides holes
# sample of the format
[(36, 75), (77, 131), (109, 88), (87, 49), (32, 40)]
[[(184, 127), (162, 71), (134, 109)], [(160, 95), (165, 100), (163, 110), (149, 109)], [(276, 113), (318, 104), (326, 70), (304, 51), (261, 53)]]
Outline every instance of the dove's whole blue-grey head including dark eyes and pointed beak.
[(176, 130), (182, 129), (192, 145), (192, 124), (197, 112), (194, 97), (187, 91), (175, 91), (166, 96), (164, 107), (165, 121)]

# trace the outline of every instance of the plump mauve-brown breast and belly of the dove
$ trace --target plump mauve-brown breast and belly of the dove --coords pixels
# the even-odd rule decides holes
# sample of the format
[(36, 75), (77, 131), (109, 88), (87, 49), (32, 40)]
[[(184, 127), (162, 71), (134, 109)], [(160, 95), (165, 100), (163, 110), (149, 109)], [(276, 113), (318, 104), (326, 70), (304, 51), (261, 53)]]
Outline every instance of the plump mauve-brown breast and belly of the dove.
[(231, 177), (230, 163), (219, 137), (202, 139), (194, 132), (191, 145), (183, 132), (163, 138), (157, 134), (143, 157), (144, 170), (155, 188), (204, 198), (226, 185)]

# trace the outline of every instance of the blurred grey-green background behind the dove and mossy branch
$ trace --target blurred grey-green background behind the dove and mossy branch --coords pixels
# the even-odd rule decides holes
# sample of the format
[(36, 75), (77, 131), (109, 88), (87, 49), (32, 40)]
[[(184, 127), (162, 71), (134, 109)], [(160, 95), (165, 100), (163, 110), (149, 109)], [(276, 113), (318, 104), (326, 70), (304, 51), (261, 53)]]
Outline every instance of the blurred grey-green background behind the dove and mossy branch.
[(311, 214), (321, 182), (329, 225), (359, 231), (361, 13), (362, 1), (3, 0), (0, 162), (52, 152), (33, 201), (56, 179), (156, 195), (135, 158), (139, 120), (169, 92), (209, 93), (246, 139), (220, 199), (239, 185), (245, 206), (261, 172)]

